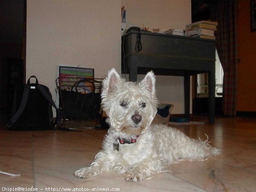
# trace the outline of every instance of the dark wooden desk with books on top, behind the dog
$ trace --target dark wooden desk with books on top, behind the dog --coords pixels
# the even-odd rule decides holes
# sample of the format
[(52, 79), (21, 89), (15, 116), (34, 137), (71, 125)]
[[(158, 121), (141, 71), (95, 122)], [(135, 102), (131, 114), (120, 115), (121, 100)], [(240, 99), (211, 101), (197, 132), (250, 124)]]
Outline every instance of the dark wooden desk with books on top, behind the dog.
[(137, 74), (149, 70), (155, 75), (184, 76), (186, 117), (190, 109), (190, 76), (208, 73), (209, 121), (214, 123), (215, 41), (151, 32), (140, 34), (141, 51), (136, 48), (138, 31), (122, 36), (122, 73), (129, 73), (130, 81), (137, 81)]

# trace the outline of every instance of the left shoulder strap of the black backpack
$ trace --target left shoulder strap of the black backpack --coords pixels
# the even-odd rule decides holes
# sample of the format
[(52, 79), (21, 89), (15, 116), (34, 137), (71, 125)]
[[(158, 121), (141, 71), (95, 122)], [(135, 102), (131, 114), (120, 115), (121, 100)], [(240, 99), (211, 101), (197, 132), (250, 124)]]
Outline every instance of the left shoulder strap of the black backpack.
[(12, 116), (12, 119), (10, 119), (10, 121), (7, 123), (8, 128), (10, 128), (17, 121), (17, 119), (20, 117), (21, 113), (25, 109), (26, 103), (29, 97), (29, 87), (30, 86), (28, 84), (24, 85), (24, 91), (23, 91), (22, 100), (20, 102), (20, 107), (18, 108), (16, 113)]

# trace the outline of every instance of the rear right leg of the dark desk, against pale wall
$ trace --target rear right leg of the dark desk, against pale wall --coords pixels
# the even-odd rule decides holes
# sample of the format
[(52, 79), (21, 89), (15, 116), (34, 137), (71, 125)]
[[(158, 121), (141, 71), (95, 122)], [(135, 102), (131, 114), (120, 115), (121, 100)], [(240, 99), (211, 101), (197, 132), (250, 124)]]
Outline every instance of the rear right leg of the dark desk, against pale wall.
[(189, 112), (190, 112), (190, 76), (184, 76), (184, 105), (185, 105), (185, 117), (189, 118)]

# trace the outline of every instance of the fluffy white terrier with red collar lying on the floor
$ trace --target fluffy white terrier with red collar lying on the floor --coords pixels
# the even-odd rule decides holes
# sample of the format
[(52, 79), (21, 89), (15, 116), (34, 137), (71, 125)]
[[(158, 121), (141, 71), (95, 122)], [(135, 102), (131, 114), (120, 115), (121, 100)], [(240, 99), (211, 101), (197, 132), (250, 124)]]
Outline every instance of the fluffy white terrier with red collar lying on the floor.
[(193, 140), (165, 125), (151, 125), (157, 113), (155, 76), (148, 72), (141, 82), (126, 82), (115, 69), (103, 81), (102, 106), (110, 128), (103, 149), (90, 164), (75, 172), (89, 178), (113, 170), (125, 180), (140, 181), (165, 172), (179, 160), (205, 160), (220, 153), (207, 141)]

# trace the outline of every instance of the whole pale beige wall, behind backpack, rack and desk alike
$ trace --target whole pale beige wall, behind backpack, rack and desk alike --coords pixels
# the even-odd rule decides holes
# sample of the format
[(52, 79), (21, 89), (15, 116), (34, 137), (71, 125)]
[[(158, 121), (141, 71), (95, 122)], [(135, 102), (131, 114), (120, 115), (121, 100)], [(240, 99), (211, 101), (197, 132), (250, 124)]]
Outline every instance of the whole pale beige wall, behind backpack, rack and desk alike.
[[(26, 79), (37, 76), (54, 98), (58, 64), (94, 68), (97, 78), (111, 67), (120, 73), (122, 6), (128, 23), (150, 29), (191, 22), (190, 0), (27, 0)], [(183, 77), (157, 76), (157, 94), (184, 113)]]

